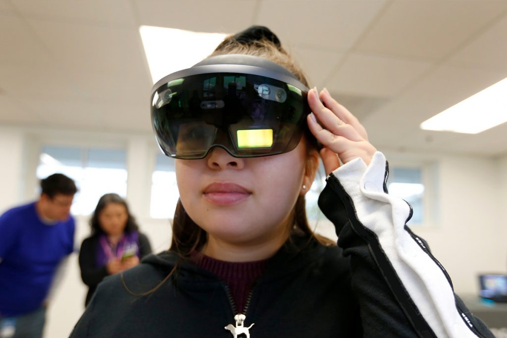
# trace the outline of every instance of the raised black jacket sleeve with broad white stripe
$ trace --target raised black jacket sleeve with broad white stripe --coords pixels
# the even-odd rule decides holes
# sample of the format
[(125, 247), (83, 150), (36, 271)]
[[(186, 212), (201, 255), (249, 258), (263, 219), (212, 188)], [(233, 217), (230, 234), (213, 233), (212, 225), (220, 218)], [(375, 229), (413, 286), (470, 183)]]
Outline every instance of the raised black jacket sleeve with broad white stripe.
[(350, 255), (365, 337), (494, 337), (454, 294), (449, 275), (406, 222), (412, 207), (387, 194), (377, 152), (335, 170), (319, 197), (338, 245)]

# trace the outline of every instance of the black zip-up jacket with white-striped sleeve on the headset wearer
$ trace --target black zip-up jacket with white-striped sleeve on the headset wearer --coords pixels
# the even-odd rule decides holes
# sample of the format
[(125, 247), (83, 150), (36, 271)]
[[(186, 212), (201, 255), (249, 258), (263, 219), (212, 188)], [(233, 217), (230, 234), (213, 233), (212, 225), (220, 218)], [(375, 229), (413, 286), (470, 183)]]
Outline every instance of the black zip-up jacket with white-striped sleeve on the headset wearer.
[(384, 191), (387, 166), (379, 154), (368, 168), (355, 160), (328, 177), (319, 206), (336, 226), (339, 247), (293, 236), (270, 259), (243, 311), (218, 277), (163, 252), (107, 277), (71, 336), (230, 338), (225, 326), (243, 312), (252, 338), (493, 337), (405, 226), (411, 208)]

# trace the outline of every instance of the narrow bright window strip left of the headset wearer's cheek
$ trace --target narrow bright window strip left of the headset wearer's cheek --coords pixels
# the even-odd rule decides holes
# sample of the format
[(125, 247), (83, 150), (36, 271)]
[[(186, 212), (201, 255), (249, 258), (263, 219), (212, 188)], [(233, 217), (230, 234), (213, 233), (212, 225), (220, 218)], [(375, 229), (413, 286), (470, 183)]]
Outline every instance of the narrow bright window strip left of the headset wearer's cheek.
[(178, 199), (174, 159), (164, 154), (157, 154), (155, 170), (152, 174), (150, 216), (172, 218)]

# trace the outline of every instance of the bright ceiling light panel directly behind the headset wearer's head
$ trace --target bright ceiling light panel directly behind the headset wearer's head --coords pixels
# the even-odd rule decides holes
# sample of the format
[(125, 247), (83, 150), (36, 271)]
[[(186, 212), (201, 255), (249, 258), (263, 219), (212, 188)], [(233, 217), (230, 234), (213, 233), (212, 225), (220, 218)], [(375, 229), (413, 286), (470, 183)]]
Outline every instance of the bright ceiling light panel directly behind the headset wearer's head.
[(139, 33), (153, 83), (201, 61), (227, 35), (155, 26), (140, 26)]

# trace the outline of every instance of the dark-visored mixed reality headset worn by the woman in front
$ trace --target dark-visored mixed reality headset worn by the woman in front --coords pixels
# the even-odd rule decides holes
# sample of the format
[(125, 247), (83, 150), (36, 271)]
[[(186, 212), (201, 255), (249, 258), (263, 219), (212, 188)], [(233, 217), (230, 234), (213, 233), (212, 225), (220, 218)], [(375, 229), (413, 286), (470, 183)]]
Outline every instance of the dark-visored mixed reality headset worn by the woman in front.
[(202, 159), (216, 146), (234, 157), (287, 153), (303, 134), (307, 94), (274, 62), (214, 56), (155, 84), (152, 124), (162, 152), (176, 159)]

